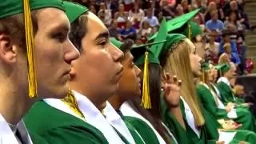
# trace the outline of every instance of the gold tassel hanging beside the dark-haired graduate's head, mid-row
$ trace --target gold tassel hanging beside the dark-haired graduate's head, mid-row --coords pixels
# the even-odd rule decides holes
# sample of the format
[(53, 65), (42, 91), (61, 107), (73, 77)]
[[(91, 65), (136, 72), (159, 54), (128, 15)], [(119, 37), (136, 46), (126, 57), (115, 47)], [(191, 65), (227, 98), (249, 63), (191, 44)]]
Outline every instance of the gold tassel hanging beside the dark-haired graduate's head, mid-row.
[(150, 102), (150, 86), (149, 86), (149, 62), (148, 62), (148, 52), (145, 53), (144, 61), (144, 73), (143, 73), (143, 85), (142, 85), (142, 103), (144, 109), (151, 109)]

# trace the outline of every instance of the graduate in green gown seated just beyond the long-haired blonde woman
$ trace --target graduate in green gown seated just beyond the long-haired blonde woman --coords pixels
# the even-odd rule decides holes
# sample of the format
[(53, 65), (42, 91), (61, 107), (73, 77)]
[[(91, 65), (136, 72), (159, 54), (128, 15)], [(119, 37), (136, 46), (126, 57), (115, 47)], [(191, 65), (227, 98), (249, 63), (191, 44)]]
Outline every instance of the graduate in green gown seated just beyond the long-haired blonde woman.
[(249, 110), (242, 107), (234, 108), (233, 105), (225, 106), (211, 85), (214, 82), (214, 66), (211, 66), (212, 70), (210, 70), (209, 63), (203, 66), (202, 82), (197, 86), (198, 97), (201, 99), (202, 105), (210, 114), (214, 114), (216, 119), (233, 119), (234, 122), (242, 124), (239, 129), (254, 131), (254, 116), (250, 114)]

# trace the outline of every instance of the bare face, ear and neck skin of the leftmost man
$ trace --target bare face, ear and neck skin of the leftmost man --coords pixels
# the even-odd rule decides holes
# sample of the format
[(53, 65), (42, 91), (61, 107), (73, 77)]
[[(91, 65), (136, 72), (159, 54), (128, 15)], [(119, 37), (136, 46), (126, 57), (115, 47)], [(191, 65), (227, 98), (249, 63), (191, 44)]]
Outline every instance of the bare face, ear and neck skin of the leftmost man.
[[(70, 42), (70, 23), (62, 10), (38, 10), (34, 37), (38, 97), (28, 97), (27, 62), (24, 49), (10, 35), (0, 34), (0, 113), (16, 125), (32, 104), (41, 98), (64, 98), (69, 90), (70, 63), (79, 53)], [(23, 49), (23, 50), (22, 50)]]

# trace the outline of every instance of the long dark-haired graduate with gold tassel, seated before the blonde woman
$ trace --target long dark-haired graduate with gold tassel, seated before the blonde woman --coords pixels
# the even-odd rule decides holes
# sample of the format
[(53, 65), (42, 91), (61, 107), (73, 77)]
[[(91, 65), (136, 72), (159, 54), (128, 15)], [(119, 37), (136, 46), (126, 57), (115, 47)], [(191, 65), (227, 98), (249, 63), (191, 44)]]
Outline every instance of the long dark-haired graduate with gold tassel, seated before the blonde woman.
[[(154, 41), (150, 46), (150, 50), (148, 50), (145, 45), (140, 49), (132, 49), (132, 54), (134, 54), (134, 60), (136, 65), (140, 66), (143, 70), (141, 96), (142, 99), (134, 98), (130, 99), (130, 101), (125, 102), (121, 106), (121, 112), (125, 115), (126, 119), (128, 119), (127, 117), (129, 117), (129, 122), (132, 124), (132, 126), (137, 128), (141, 135), (143, 134), (143, 138), (150, 139), (151, 137), (151, 134), (145, 133), (145, 128), (141, 124), (142, 122), (146, 122), (154, 131), (157, 131), (157, 133), (155, 132), (155, 134), (158, 136), (157, 143), (178, 143), (178, 141), (174, 137), (174, 134), (170, 130), (168, 130), (167, 126), (161, 120), (161, 69), (157, 56), (154, 55), (151, 51), (154, 46), (158, 48), (163, 46), (161, 40), (166, 39), (166, 32), (162, 33), (162, 28), (165, 28), (165, 24), (166, 22), (165, 20), (163, 20), (159, 30), (160, 33), (158, 33), (158, 36), (155, 40), (156, 42)], [(147, 87), (147, 83), (149, 87)], [(164, 95), (168, 103), (172, 100), (173, 94), (179, 95), (178, 83), (171, 83), (170, 77), (166, 78), (166, 84), (164, 87)], [(172, 102), (170, 103), (170, 105), (172, 105)], [(151, 142), (156, 143), (153, 141)]]

